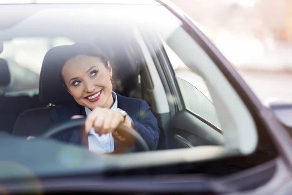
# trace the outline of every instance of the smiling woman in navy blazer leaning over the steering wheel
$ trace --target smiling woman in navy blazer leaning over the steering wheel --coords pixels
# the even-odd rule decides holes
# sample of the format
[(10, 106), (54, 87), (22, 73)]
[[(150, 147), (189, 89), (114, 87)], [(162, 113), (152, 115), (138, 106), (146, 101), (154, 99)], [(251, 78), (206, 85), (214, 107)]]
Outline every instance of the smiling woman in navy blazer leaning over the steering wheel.
[[(48, 125), (87, 116), (85, 132), (89, 150), (111, 153), (114, 149), (112, 134), (123, 123), (134, 128), (149, 149), (155, 150), (160, 130), (146, 101), (127, 98), (113, 91), (115, 83), (110, 61), (93, 46), (76, 43), (69, 48), (64, 52), (64, 59), (61, 59), (61, 79), (77, 104), (55, 108)], [(57, 139), (77, 144), (81, 142), (78, 131), (61, 134)]]

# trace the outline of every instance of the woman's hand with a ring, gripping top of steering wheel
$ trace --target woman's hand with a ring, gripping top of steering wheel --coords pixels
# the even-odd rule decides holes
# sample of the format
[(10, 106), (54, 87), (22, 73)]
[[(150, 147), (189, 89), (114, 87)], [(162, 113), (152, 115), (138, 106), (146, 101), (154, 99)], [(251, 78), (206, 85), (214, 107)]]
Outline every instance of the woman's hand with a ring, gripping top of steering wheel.
[(116, 111), (108, 108), (95, 108), (85, 120), (85, 133), (89, 134), (91, 128), (94, 127), (97, 134), (108, 134), (113, 132), (120, 123), (131, 126), (131, 121), (128, 118), (124, 121), (124, 117)]

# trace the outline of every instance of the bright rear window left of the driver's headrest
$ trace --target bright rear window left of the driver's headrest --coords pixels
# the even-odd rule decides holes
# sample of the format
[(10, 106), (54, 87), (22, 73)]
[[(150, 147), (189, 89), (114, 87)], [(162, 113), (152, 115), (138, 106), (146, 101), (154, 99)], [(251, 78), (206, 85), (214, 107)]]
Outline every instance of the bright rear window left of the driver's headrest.
[(11, 82), (2, 93), (5, 96), (37, 95), (41, 65), (47, 51), (73, 43), (66, 37), (18, 37), (3, 41), (0, 58), (7, 62)]

